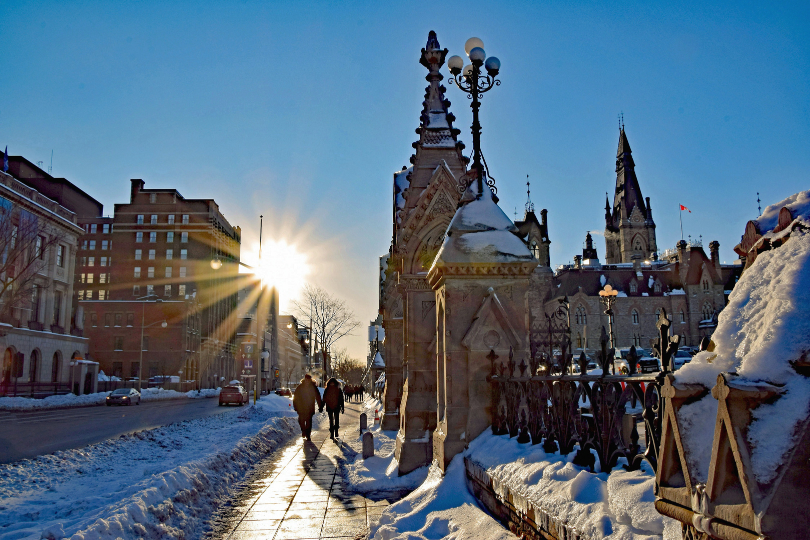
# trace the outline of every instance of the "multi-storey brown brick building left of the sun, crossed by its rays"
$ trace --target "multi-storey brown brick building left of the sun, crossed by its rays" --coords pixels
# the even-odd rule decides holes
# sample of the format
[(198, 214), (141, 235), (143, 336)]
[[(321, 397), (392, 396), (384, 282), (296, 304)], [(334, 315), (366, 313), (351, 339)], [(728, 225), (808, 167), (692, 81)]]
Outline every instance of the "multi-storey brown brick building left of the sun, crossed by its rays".
[[(130, 314), (149, 310), (143, 306), (151, 304), (150, 301), (163, 300), (165, 305), (176, 305), (185, 313), (173, 312), (171, 317), (162, 317), (169, 321), (169, 326), (166, 331), (156, 330), (150, 336), (148, 346), (156, 353), (150, 362), (158, 363), (159, 374), (177, 372), (180, 369), (177, 366), (181, 366), (184, 380), (215, 387), (223, 373), (234, 371), (236, 361), (241, 229), (228, 223), (212, 199), (186, 199), (176, 189), (145, 189), (143, 180), (131, 182), (130, 202), (115, 205), (109, 234), (104, 232), (108, 219), (87, 223), (87, 249), (80, 250), (80, 257), (88, 257), (88, 264), (90, 253), (97, 253), (95, 257), (99, 258), (94, 262), (99, 265), (100, 257), (104, 257), (104, 242), (109, 242), (108, 257), (114, 261), (107, 272), (91, 272), (90, 266), (86, 268), (85, 279), (94, 275), (93, 283), (84, 283), (85, 300), (80, 303), (86, 312), (85, 321), (89, 317), (100, 321), (100, 317), (108, 314), (113, 317), (113, 325), (97, 324), (92, 330), (94, 341), (98, 342), (97, 347), (92, 346), (92, 354), (113, 370), (118, 368), (117, 364), (113, 368), (113, 362), (122, 362), (122, 373), (130, 376), (135, 360), (129, 356), (123, 359), (126, 350), (113, 347), (115, 339), (122, 337), (117, 329), (126, 329), (127, 325), (118, 327), (114, 317), (120, 316), (124, 322)], [(108, 258), (108, 265), (109, 261)], [(104, 275), (106, 288), (101, 287), (99, 274)], [(140, 302), (126, 304), (138, 300), (147, 300), (147, 304), (141, 309), (138, 309)], [(111, 301), (115, 304), (109, 304)], [(131, 328), (137, 330), (140, 321), (133, 317)], [(150, 322), (145, 321), (147, 325)], [(195, 332), (198, 343), (194, 342), (197, 338), (190, 337)], [(175, 348), (180, 343), (188, 347)], [(143, 368), (143, 376), (147, 375), (147, 368), (155, 371), (147, 364)]]

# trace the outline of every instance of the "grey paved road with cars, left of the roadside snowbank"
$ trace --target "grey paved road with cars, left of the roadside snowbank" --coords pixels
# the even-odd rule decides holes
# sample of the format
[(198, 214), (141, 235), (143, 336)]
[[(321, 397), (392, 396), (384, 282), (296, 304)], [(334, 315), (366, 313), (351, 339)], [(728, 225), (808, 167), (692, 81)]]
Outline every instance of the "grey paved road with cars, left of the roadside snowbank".
[(168, 423), (218, 415), (215, 398), (166, 399), (130, 406), (74, 407), (31, 412), (0, 411), (0, 463), (40, 456)]

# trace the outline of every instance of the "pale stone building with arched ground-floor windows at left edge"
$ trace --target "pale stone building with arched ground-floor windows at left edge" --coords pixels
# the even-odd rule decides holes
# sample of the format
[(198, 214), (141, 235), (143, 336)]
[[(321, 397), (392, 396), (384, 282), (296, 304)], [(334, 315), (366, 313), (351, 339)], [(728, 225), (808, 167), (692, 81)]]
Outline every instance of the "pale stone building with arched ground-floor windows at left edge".
[(76, 222), (74, 212), (0, 172), (0, 395), (96, 389), (87, 339), (70, 334), (83, 233)]

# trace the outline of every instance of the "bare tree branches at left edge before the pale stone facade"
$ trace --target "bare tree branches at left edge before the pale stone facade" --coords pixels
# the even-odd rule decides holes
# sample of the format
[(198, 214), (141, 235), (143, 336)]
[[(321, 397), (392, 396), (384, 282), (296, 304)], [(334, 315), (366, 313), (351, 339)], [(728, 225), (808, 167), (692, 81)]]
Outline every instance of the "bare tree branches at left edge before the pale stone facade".
[(0, 198), (0, 317), (13, 318), (16, 309), (20, 319), (36, 319), (33, 312), (49, 287), (45, 274), (53, 249), (66, 264), (67, 247), (60, 244), (64, 239), (47, 219)]

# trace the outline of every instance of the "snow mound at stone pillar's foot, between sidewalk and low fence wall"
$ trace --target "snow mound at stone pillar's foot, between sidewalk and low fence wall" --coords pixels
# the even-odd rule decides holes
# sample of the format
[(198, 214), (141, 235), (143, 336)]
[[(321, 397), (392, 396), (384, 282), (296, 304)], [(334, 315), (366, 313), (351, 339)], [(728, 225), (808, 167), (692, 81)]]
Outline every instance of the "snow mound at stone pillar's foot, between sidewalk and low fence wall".
[(479, 506), (467, 490), (464, 461), (459, 454), (441, 475), (431, 466), (416, 491), (391, 504), (370, 524), (373, 540), (507, 540), (515, 538)]

